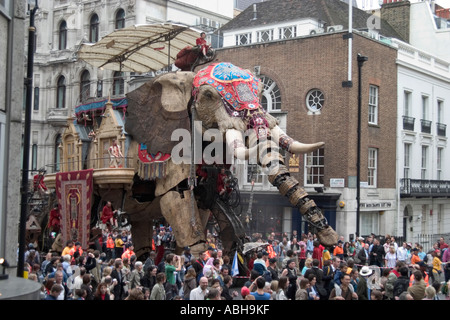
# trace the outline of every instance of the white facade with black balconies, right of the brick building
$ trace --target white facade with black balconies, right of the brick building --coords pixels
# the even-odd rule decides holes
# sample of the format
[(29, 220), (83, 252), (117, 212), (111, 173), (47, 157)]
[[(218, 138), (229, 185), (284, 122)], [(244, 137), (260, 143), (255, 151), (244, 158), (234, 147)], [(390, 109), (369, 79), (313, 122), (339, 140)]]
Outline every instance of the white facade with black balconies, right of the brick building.
[[(450, 62), (398, 48), (398, 220), (410, 241), (450, 232)], [(435, 235), (435, 236), (433, 236)]]

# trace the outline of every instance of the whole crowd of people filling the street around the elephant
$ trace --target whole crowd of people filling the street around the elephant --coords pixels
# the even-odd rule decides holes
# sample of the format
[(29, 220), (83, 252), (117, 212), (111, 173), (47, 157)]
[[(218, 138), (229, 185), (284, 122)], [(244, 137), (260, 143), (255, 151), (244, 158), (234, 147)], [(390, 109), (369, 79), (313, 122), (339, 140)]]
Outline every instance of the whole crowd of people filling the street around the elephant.
[[(390, 236), (324, 248), (314, 234), (252, 239), (240, 258), (247, 272), (232, 272), (233, 259), (208, 234), (208, 250), (173, 253), (170, 227), (155, 229), (152, 250), (139, 261), (130, 231), (106, 229), (101, 249), (68, 241), (62, 252), (25, 253), (28, 279), (42, 284), (47, 300), (435, 300), (450, 299), (450, 251), (441, 238), (425, 252)], [(237, 276), (237, 277), (236, 277)], [(440, 281), (441, 276), (445, 281)], [(237, 285), (238, 280), (245, 282)]]

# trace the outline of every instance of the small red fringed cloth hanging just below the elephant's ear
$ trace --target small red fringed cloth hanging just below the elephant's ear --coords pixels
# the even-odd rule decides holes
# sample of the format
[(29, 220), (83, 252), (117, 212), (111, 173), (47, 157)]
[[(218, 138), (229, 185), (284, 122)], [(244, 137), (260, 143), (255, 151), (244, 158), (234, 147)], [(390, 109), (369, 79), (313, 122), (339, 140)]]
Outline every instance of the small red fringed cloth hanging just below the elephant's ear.
[(167, 174), (167, 161), (170, 159), (169, 153), (158, 152), (150, 154), (147, 146), (139, 144), (138, 153), (138, 175), (143, 180), (154, 180), (164, 178)]

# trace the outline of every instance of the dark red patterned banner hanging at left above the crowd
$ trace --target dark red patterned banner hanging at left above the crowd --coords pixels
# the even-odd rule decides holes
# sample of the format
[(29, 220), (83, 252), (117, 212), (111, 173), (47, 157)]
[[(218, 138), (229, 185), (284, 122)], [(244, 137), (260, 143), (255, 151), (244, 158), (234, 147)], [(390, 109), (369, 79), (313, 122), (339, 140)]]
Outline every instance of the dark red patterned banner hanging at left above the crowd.
[(61, 212), (63, 245), (78, 241), (83, 249), (89, 246), (93, 169), (56, 174), (56, 194)]

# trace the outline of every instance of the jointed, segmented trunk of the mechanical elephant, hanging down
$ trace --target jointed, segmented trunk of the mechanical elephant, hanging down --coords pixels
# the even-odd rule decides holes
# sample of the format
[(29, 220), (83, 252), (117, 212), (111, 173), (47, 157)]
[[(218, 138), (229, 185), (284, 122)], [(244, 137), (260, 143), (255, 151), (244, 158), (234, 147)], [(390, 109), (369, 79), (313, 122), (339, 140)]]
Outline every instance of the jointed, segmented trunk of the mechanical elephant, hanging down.
[(290, 203), (299, 209), (303, 218), (309, 223), (313, 233), (316, 233), (324, 246), (337, 243), (338, 234), (328, 225), (328, 222), (314, 200), (308, 198), (308, 193), (291, 177), (279, 153), (278, 145), (269, 140), (258, 142), (260, 151), (258, 162), (268, 172), (269, 182), (278, 188)]

